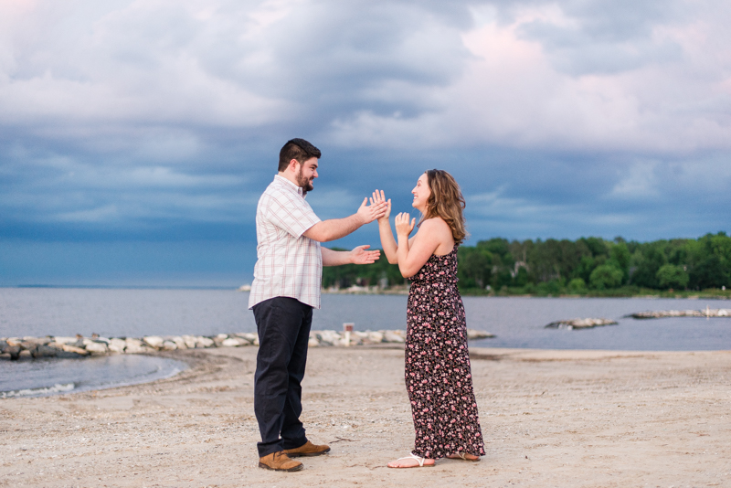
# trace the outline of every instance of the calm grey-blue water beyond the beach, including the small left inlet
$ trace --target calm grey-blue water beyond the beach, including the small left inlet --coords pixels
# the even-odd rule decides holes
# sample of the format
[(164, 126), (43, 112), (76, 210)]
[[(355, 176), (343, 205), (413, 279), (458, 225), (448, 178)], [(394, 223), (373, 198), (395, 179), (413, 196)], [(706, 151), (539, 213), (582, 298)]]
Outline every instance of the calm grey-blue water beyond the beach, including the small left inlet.
[[(225, 290), (0, 288), (0, 336), (255, 332), (248, 301), (249, 293)], [(406, 302), (404, 295), (325, 294), (322, 310), (314, 312), (313, 328), (341, 330), (344, 322), (353, 322), (356, 330), (403, 329)], [(731, 308), (728, 301), (465, 297), (464, 305), (468, 327), (497, 335), (473, 345), (651, 351), (731, 349), (731, 318), (624, 318), (646, 310), (697, 310), (706, 305)], [(556, 320), (577, 317), (603, 317), (620, 324), (575, 331), (544, 328)], [(158, 363), (151, 363), (153, 360)], [(75, 388), (96, 389), (131, 378), (139, 383), (154, 379), (154, 375), (174, 374), (171, 372), (181, 365), (170, 361), (146, 356), (0, 361), (0, 392), (53, 390), (71, 383)]]

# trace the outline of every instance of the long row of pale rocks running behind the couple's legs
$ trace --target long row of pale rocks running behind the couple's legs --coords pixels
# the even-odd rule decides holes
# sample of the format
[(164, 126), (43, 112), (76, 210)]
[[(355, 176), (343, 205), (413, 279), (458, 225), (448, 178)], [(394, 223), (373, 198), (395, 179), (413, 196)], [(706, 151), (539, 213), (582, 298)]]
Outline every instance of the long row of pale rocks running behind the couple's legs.
[[(470, 340), (494, 337), (493, 334), (468, 330)], [(353, 331), (348, 336), (335, 331), (312, 331), (310, 347), (349, 346), (403, 343), (406, 331)], [(157, 351), (200, 349), (208, 347), (241, 347), (259, 345), (259, 336), (253, 333), (205, 335), (147, 335), (132, 337), (91, 337), (76, 335), (61, 337), (6, 337), (0, 338), (0, 357), (83, 357), (107, 354), (153, 354)]]

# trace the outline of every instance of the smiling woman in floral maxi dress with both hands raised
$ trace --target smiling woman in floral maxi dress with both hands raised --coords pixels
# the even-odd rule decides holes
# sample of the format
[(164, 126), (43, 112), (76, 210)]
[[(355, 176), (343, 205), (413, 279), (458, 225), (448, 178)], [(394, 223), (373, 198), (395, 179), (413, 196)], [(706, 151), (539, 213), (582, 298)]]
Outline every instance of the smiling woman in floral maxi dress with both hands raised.
[[(432, 169), (418, 178), (412, 206), (422, 217), (396, 216), (396, 235), (387, 213), (378, 219), (381, 244), (388, 262), (398, 264), (411, 280), (408, 292), (406, 386), (416, 441), (406, 458), (389, 468), (433, 466), (442, 457), (480, 461), (484, 455), (477, 403), (472, 389), (467, 328), (457, 289), (457, 247), (466, 237), (464, 198), (446, 171)], [(371, 203), (386, 201), (383, 191)]]

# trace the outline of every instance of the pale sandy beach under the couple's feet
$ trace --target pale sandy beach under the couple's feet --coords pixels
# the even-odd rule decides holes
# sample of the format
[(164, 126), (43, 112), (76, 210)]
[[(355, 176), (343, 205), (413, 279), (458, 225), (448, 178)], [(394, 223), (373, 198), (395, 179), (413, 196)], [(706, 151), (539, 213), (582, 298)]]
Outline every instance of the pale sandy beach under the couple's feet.
[(0, 486), (731, 486), (731, 352), (472, 348), (481, 462), (394, 470), (413, 430), (398, 347), (312, 348), (302, 472), (258, 468), (254, 347), (178, 351), (135, 387), (0, 400)]

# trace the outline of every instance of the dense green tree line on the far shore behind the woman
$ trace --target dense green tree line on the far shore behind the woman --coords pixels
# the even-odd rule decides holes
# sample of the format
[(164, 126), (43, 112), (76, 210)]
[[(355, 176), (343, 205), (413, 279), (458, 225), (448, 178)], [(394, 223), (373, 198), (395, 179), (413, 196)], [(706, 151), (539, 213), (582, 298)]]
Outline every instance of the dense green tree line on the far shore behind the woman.
[[(731, 237), (719, 232), (652, 242), (496, 238), (461, 246), (458, 266), (460, 289), (468, 293), (610, 295), (722, 289), (731, 288)], [(383, 255), (371, 265), (323, 271), (325, 288), (406, 282)]]

